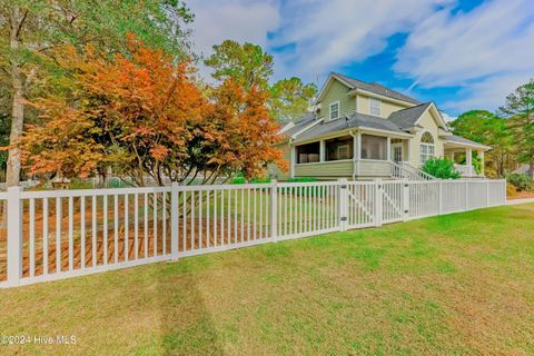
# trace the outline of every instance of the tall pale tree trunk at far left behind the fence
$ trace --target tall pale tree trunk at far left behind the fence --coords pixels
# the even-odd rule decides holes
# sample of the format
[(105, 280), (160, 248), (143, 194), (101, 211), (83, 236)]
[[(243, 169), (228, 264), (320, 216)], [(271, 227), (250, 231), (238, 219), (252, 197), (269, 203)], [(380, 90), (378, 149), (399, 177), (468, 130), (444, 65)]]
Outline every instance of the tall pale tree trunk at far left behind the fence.
[[(22, 136), (24, 125), (24, 79), (21, 70), (21, 63), (17, 60), (18, 50), (20, 48), (20, 27), (22, 26), (20, 9), (13, 7), (11, 12), (10, 28), (10, 48), (14, 52), (14, 59), (11, 62), (11, 86), (13, 89), (13, 102), (11, 109), (11, 132), (9, 135), (9, 144), (17, 144)], [(8, 154), (8, 164), (6, 171), (6, 186), (14, 187), (19, 185), (20, 179), (20, 149), (11, 147)]]

